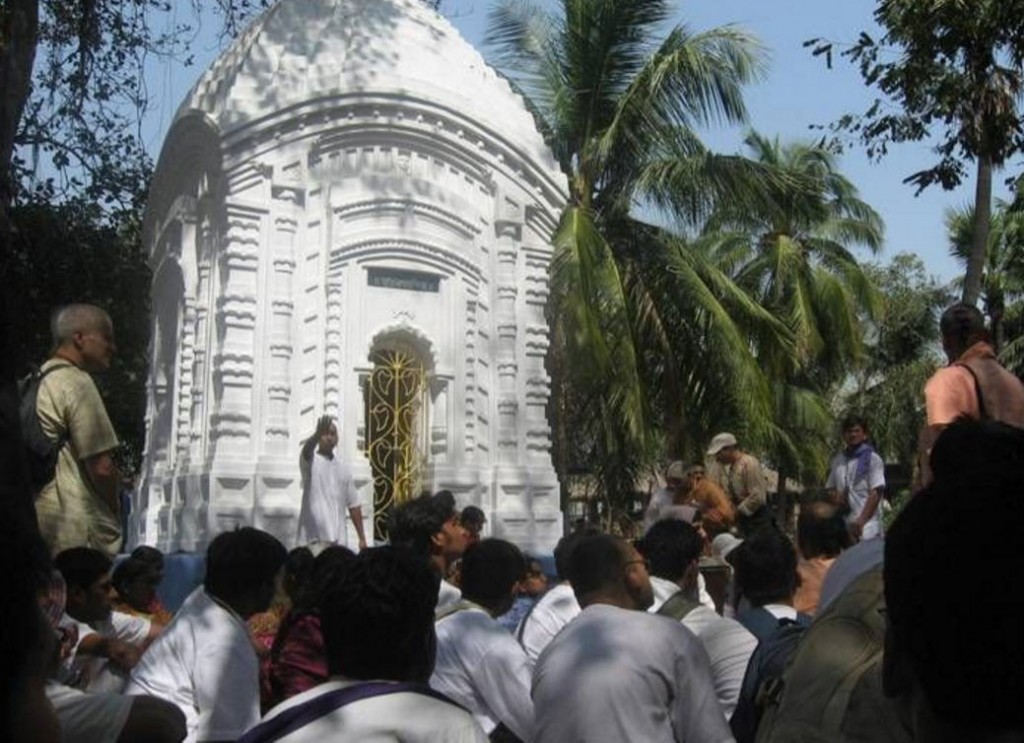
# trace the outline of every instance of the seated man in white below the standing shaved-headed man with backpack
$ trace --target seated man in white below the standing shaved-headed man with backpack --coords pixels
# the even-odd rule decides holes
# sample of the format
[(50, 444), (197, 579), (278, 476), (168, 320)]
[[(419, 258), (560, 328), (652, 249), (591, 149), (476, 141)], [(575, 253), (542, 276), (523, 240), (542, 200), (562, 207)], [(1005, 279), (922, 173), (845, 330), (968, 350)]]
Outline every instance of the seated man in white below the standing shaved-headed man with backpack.
[(53, 564), (68, 592), (61, 625), (78, 635), (60, 680), (88, 692), (124, 691), (128, 673), (162, 627), (148, 619), (112, 611), (112, 563), (98, 550), (71, 548), (57, 555)]

